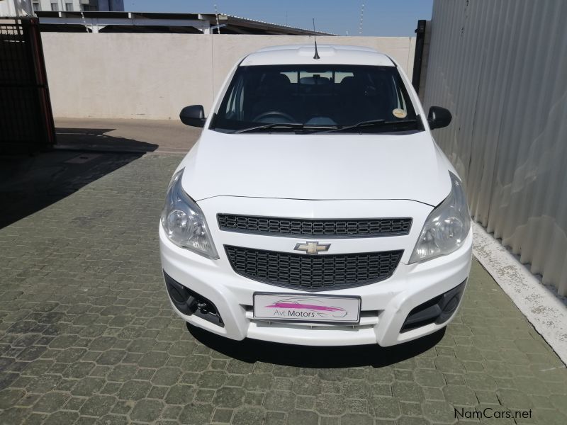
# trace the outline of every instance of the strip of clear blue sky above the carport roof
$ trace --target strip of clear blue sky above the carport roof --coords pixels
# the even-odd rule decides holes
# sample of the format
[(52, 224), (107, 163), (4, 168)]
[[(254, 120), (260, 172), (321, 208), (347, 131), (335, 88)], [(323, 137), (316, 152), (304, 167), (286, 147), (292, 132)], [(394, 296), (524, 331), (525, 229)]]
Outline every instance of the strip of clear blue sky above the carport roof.
[(362, 35), (411, 36), (418, 19), (431, 19), (433, 0), (124, 0), (126, 11), (219, 13), (320, 31), (359, 35), (360, 9), (364, 3)]

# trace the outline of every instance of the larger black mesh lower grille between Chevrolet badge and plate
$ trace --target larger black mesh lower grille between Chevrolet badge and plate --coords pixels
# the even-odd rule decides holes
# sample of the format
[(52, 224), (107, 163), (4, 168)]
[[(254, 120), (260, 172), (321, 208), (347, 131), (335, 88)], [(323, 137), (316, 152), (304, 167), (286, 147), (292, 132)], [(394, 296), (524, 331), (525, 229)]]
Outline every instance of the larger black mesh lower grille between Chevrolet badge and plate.
[(361, 254), (288, 254), (225, 245), (234, 271), (270, 285), (332, 290), (368, 285), (392, 276), (403, 250)]

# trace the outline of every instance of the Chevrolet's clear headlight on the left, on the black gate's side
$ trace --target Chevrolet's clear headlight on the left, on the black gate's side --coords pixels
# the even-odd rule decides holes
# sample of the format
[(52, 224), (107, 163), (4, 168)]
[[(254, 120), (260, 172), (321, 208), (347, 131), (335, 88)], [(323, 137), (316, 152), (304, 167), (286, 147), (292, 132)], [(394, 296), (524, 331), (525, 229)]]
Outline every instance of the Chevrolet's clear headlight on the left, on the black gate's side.
[(174, 174), (167, 188), (165, 206), (162, 211), (162, 226), (170, 241), (181, 248), (189, 249), (218, 259), (215, 244), (210, 238), (205, 216), (194, 200), (181, 188), (184, 169)]

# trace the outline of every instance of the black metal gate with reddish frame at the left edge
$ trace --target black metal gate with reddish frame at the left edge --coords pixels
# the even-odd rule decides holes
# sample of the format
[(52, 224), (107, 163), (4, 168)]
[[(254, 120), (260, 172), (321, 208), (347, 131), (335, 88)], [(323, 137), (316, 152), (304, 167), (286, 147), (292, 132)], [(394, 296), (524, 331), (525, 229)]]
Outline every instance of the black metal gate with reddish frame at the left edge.
[(37, 18), (0, 18), (0, 153), (55, 144)]

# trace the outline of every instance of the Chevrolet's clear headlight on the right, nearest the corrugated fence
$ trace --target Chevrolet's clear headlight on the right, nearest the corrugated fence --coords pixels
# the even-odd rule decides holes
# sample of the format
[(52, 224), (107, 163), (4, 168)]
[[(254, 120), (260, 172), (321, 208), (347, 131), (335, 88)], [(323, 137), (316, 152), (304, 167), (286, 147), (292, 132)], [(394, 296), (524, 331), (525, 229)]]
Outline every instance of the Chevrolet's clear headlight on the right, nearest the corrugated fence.
[(425, 220), (410, 264), (451, 254), (463, 245), (468, 230), (471, 229), (471, 214), (468, 212), (462, 183), (451, 172), (449, 176), (451, 193)]

